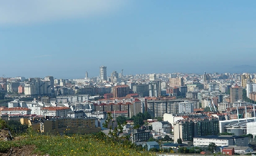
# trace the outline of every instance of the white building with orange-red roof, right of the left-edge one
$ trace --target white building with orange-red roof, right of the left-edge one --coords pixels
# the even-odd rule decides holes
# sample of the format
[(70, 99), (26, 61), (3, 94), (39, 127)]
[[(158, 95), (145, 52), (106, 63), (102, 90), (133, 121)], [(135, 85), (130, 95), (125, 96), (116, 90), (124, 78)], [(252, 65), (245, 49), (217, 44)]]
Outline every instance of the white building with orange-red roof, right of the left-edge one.
[(68, 107), (44, 107), (41, 108), (40, 114), (43, 116), (67, 116), (67, 112), (71, 111)]

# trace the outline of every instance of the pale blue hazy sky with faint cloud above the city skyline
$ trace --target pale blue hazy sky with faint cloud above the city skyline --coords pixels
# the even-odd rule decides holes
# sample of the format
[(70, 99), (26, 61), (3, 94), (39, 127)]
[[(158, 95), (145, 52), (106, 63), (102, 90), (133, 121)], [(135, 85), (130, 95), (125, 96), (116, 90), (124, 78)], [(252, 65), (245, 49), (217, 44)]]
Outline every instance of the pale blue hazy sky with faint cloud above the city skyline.
[(256, 69), (256, 1), (0, 2), (0, 76)]

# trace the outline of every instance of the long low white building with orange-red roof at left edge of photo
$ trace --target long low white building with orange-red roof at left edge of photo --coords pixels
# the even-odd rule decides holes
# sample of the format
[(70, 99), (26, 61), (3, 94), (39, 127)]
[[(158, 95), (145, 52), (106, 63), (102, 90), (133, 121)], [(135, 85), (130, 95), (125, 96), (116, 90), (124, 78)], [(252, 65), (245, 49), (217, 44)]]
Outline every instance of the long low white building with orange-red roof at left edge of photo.
[(1, 110), (2, 114), (21, 114), (29, 115), (31, 114), (31, 109), (23, 107), (13, 107), (13, 108), (4, 108)]

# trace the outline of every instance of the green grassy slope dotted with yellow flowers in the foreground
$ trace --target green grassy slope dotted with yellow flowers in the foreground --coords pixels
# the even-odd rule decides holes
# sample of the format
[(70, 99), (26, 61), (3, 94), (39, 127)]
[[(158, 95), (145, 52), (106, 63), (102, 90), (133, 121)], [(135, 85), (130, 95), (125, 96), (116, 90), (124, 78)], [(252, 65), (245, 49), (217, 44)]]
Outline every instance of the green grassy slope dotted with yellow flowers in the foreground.
[(19, 136), (19, 140), (0, 141), (0, 151), (25, 145), (36, 146), (35, 153), (49, 155), (155, 155), (139, 151), (125, 140), (113, 140), (103, 135), (51, 136), (37, 133)]

